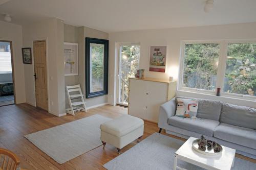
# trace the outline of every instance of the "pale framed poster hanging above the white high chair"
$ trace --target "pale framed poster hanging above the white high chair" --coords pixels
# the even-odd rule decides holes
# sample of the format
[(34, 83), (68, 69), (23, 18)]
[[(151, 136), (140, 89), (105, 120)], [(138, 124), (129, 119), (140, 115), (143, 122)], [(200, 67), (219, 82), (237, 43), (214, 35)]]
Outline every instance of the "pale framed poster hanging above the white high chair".
[(65, 76), (78, 75), (78, 44), (64, 42)]

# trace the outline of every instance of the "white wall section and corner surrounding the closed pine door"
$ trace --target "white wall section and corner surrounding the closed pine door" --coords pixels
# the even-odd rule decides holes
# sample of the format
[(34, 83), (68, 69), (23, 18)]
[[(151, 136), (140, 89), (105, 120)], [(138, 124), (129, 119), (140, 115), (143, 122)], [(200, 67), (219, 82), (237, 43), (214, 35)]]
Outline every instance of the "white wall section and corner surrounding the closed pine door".
[[(48, 67), (49, 112), (54, 115), (65, 113), (65, 78), (63, 64), (63, 23), (51, 18), (27, 24), (23, 27), (23, 47), (31, 47), (33, 41), (46, 40)], [(34, 63), (34, 61), (33, 61)], [(27, 103), (35, 106), (34, 65), (24, 65)], [(52, 105), (53, 103), (53, 105)]]

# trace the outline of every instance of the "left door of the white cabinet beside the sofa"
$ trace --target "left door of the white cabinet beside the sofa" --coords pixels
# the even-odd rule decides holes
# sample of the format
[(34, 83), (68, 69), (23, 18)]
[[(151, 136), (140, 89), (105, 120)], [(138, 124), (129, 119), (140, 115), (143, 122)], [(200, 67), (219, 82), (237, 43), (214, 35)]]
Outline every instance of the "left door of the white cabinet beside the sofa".
[(132, 116), (146, 119), (146, 81), (130, 79), (129, 82), (129, 108)]

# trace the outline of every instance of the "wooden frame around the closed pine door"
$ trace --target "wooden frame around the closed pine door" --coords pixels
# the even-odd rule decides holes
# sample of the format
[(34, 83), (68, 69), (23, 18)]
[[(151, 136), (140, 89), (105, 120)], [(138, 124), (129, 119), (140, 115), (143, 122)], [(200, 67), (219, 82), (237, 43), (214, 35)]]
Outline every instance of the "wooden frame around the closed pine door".
[(33, 82), (34, 82), (34, 104), (32, 104), (33, 106), (35, 106), (36, 107), (36, 92), (35, 92), (35, 78), (34, 78), (34, 75), (35, 75), (35, 65), (34, 65), (34, 42), (40, 42), (40, 41), (45, 41), (46, 42), (46, 80), (47, 80), (47, 100), (48, 100), (48, 112), (50, 113), (50, 100), (49, 100), (49, 96), (50, 96), (50, 94), (49, 94), (49, 68), (48, 68), (48, 46), (47, 46), (47, 44), (48, 44), (48, 39), (47, 38), (35, 38), (35, 39), (33, 39), (32, 40), (32, 47), (31, 47), (31, 50), (32, 50), (32, 55), (33, 55), (33, 57), (32, 57), (32, 65), (33, 65)]

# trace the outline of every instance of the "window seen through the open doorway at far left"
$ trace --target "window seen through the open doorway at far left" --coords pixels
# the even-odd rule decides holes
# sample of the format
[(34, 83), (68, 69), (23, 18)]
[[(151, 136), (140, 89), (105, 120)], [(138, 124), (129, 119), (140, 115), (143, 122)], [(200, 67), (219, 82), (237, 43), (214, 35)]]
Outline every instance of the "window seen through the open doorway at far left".
[(10, 42), (0, 42), (0, 74), (12, 72)]

